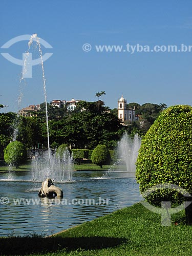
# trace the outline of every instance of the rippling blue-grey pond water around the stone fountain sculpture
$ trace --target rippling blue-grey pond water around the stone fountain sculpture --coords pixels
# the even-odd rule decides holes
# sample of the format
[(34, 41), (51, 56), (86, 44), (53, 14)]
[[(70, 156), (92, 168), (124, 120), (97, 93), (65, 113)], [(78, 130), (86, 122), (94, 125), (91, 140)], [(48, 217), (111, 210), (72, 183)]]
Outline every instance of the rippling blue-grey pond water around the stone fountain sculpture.
[(0, 235), (47, 235), (77, 226), (142, 200), (135, 174), (79, 171), (70, 182), (55, 182), (62, 199), (39, 198), (41, 182), (31, 172), (0, 174)]

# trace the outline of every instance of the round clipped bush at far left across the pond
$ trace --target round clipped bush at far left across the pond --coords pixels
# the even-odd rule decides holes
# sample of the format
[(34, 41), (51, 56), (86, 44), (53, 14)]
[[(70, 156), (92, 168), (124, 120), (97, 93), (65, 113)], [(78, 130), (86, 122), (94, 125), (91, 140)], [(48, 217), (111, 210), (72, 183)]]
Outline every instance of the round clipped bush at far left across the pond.
[(18, 167), (27, 160), (26, 147), (19, 141), (13, 141), (4, 150), (4, 159), (7, 164)]

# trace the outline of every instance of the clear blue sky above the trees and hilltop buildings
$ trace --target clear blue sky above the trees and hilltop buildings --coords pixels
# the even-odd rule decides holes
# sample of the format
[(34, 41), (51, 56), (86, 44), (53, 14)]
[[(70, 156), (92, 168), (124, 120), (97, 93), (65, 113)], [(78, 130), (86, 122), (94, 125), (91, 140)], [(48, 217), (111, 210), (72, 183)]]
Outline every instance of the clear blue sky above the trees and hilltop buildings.
[[(105, 91), (105, 104), (128, 102), (190, 104), (191, 52), (97, 52), (95, 45), (192, 45), (192, 2), (186, 1), (22, 1), (1, 0), (0, 47), (19, 35), (37, 33), (53, 47), (45, 61), (47, 97), (94, 101)], [(89, 43), (92, 50), (84, 52)], [(1, 49), (22, 59), (28, 42)], [(35, 55), (34, 55), (35, 56)], [(17, 111), (22, 66), (0, 55), (0, 103)], [(44, 102), (39, 66), (22, 85), (21, 106)]]

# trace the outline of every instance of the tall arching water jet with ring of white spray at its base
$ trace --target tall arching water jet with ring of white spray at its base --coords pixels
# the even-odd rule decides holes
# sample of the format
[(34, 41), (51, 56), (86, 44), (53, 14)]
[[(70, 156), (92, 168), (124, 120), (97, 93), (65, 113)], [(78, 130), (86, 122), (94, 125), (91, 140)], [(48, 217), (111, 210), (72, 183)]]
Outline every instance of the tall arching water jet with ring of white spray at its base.
[[(34, 151), (33, 155), (33, 171), (32, 171), (32, 179), (36, 181), (42, 181), (47, 178), (51, 178), (54, 181), (70, 181), (72, 179), (72, 169), (73, 169), (73, 157), (70, 155), (69, 151), (66, 150), (62, 152), (62, 156), (57, 156), (56, 152), (51, 152), (50, 143), (49, 143), (49, 124), (48, 124), (48, 109), (47, 109), (47, 93), (46, 93), (46, 78), (44, 71), (44, 61), (42, 58), (42, 51), (40, 45), (40, 38), (37, 34), (33, 34), (28, 42), (28, 51), (25, 54), (24, 63), (26, 63), (23, 71), (24, 74), (27, 73), (28, 67), (28, 57), (29, 50), (35, 41), (37, 50), (40, 56), (40, 66), (42, 70), (42, 80), (43, 80), (43, 88), (44, 88), (44, 96), (45, 96), (45, 105), (46, 105), (46, 124), (47, 124), (47, 143), (48, 150), (46, 152), (43, 151)], [(23, 78), (22, 78), (23, 79)]]

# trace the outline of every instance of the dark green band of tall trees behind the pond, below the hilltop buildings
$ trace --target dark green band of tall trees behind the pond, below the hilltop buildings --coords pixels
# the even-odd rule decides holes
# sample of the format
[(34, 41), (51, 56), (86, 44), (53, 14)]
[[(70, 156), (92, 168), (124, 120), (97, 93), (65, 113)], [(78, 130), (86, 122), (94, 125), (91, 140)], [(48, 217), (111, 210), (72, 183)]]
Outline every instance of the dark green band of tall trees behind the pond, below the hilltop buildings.
[[(117, 110), (110, 110), (108, 106), (104, 106), (102, 100), (79, 101), (72, 112), (53, 107), (49, 103), (47, 106), (51, 147), (55, 148), (65, 143), (72, 148), (90, 150), (98, 144), (104, 144), (113, 150), (125, 131), (131, 135), (146, 133), (159, 113), (166, 107), (163, 104), (130, 103), (128, 107), (135, 106), (136, 114), (139, 114), (141, 119), (140, 122), (123, 125), (117, 117)], [(13, 137), (27, 148), (48, 146), (45, 109), (45, 103), (41, 103), (40, 111), (35, 112), (32, 117), (17, 116), (12, 112), (0, 114), (1, 157), (4, 148), (13, 141)]]

